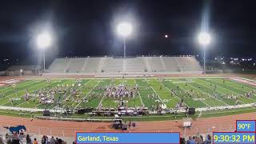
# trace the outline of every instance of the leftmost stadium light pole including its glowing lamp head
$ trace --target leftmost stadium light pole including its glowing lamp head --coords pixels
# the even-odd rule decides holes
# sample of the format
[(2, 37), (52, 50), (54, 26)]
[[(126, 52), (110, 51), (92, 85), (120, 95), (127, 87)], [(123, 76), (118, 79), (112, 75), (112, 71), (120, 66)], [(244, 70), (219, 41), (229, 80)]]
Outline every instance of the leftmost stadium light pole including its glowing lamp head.
[(46, 70), (46, 48), (51, 46), (51, 35), (48, 32), (43, 32), (42, 34), (38, 34), (37, 45), (38, 49), (42, 50), (43, 53), (43, 72)]

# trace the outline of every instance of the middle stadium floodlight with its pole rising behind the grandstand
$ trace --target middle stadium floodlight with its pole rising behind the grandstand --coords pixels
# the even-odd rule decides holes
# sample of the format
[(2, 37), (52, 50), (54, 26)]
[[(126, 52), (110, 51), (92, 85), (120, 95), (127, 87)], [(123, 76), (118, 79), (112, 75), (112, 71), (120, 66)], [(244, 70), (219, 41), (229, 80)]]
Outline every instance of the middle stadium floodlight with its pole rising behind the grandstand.
[(126, 58), (126, 37), (128, 37), (132, 31), (133, 26), (129, 22), (121, 22), (118, 24), (118, 34), (123, 38), (123, 58)]

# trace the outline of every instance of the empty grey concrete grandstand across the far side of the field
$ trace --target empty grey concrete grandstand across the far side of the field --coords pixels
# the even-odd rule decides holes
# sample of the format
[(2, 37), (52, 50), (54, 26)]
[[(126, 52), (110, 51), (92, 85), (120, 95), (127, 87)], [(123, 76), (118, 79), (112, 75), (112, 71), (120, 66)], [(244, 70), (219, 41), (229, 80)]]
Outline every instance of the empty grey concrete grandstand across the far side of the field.
[(202, 74), (194, 57), (56, 58), (48, 73), (66, 74)]

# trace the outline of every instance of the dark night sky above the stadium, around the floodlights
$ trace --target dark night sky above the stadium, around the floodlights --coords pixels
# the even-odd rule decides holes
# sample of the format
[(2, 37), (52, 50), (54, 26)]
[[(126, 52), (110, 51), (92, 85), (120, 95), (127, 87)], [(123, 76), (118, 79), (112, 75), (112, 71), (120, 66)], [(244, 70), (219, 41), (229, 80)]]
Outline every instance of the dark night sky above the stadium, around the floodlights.
[[(35, 62), (38, 30), (49, 28), (54, 46), (48, 61), (64, 56), (122, 55), (122, 38), (115, 26), (132, 22), (127, 55), (202, 54), (197, 42), (202, 12), (208, 6), (211, 57), (255, 56), (253, 0), (18, 0), (1, 1), (0, 59)], [(168, 34), (169, 38), (164, 38)]]

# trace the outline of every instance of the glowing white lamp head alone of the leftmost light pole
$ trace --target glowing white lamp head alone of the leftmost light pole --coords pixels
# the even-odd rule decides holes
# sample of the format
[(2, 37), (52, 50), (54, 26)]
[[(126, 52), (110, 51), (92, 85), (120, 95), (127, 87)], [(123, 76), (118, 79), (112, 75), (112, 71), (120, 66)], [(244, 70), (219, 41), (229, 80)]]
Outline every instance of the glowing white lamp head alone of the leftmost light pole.
[(51, 45), (51, 36), (48, 32), (38, 34), (37, 44), (39, 49), (45, 49)]

